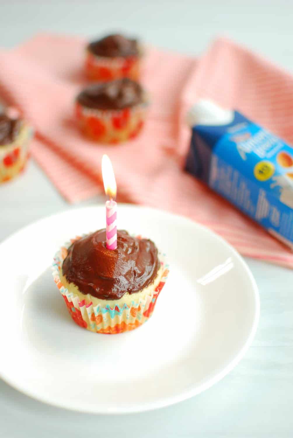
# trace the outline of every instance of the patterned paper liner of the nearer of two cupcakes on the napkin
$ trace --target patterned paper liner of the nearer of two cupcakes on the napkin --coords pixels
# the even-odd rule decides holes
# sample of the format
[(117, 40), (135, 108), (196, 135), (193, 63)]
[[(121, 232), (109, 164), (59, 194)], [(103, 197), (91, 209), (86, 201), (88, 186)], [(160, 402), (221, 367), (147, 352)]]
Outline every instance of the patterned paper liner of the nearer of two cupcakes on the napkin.
[(136, 138), (145, 123), (148, 100), (124, 109), (91, 109), (75, 101), (82, 134), (92, 141), (115, 145)]

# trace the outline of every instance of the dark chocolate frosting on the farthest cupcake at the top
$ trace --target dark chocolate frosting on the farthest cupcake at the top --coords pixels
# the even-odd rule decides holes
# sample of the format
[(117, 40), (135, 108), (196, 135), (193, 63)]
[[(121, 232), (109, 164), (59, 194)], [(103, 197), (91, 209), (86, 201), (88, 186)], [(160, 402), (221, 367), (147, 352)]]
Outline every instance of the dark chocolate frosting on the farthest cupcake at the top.
[(88, 50), (94, 55), (109, 58), (138, 56), (138, 42), (123, 35), (108, 35), (91, 42)]

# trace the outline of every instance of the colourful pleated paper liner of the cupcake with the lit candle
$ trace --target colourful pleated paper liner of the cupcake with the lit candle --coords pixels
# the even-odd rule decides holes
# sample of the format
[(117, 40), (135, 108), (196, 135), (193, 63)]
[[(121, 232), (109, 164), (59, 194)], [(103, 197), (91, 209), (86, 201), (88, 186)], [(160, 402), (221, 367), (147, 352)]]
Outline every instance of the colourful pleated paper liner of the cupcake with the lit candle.
[(166, 283), (169, 273), (169, 265), (165, 261), (166, 254), (159, 253), (159, 259), (163, 268), (162, 278), (152, 293), (139, 300), (133, 300), (131, 305), (124, 303), (121, 306), (116, 304), (114, 307), (110, 307), (109, 304), (106, 304), (107, 301), (104, 300), (105, 305), (98, 304), (94, 306), (92, 302), (79, 301), (78, 296), (69, 292), (60, 279), (60, 272), (67, 255), (67, 249), (74, 241), (80, 238), (81, 236), (77, 236), (75, 239), (71, 239), (70, 242), (66, 242), (64, 247), (56, 253), (53, 261), (53, 278), (64, 298), (71, 318), (80, 327), (96, 333), (116, 334), (136, 329), (152, 316), (159, 293)]

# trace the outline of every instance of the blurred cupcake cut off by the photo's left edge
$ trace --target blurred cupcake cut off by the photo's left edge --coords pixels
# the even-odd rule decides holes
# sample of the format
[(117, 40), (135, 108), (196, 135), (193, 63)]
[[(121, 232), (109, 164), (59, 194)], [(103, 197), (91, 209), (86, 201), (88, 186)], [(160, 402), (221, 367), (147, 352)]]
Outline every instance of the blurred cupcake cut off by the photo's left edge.
[(28, 159), (31, 128), (11, 108), (0, 113), (0, 183), (20, 173)]

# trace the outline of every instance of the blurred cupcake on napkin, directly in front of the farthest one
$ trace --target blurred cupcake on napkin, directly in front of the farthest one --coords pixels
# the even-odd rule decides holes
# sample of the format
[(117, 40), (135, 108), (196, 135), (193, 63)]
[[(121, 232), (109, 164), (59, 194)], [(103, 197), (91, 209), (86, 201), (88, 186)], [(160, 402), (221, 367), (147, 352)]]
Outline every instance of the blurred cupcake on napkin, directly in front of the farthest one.
[(141, 85), (122, 78), (85, 88), (76, 98), (75, 112), (78, 126), (87, 138), (116, 144), (139, 134), (147, 105)]

